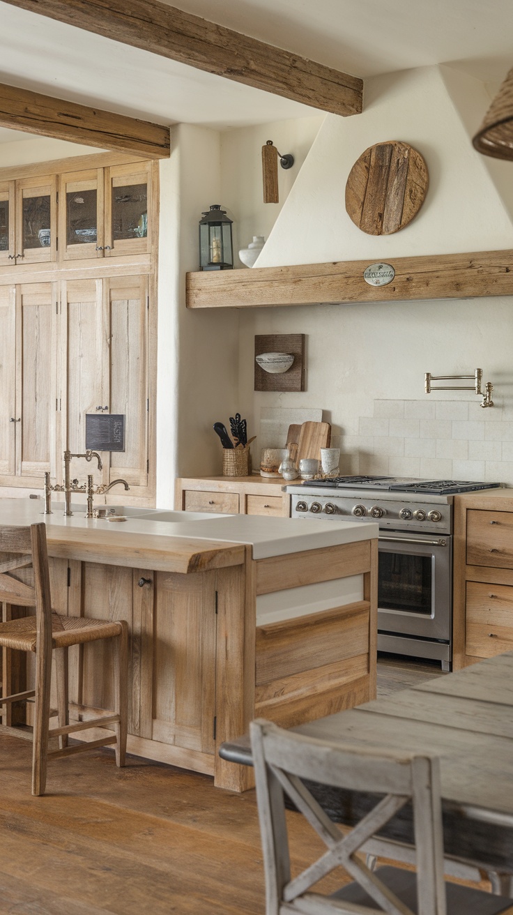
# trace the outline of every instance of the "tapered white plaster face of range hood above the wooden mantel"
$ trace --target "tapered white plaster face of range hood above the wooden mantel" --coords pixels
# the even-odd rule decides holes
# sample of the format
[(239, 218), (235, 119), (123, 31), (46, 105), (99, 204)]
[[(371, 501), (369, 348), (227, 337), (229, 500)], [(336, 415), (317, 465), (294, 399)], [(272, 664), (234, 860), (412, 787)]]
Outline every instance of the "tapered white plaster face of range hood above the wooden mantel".
[[(347, 176), (368, 146), (390, 139), (410, 143), (422, 153), (430, 188), (405, 229), (388, 236), (367, 235), (347, 216)], [(439, 67), (370, 79), (362, 114), (326, 116), (257, 264), (381, 260), (512, 247), (508, 211), (480, 158)]]

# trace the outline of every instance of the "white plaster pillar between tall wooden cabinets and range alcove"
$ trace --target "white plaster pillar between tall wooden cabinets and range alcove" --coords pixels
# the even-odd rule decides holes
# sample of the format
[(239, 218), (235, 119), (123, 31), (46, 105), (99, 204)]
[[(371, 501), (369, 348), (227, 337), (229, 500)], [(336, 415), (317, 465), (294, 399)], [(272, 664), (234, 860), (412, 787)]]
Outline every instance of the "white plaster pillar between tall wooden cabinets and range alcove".
[(239, 322), (234, 312), (187, 311), (187, 270), (198, 269), (198, 221), (220, 196), (219, 132), (180, 124), (161, 162), (157, 356), (157, 497), (173, 505), (174, 479), (221, 472), (212, 425), (239, 406)]

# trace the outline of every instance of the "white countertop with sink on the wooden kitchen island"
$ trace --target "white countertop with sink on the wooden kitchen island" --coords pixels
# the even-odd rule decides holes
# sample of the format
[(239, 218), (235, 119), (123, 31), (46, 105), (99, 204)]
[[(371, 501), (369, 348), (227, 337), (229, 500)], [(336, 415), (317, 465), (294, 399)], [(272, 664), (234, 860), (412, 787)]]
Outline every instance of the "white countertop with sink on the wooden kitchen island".
[[(166, 511), (152, 509), (123, 509), (125, 522), (106, 519), (86, 519), (85, 507), (73, 507), (73, 515), (66, 518), (63, 504), (55, 502), (52, 514), (43, 515), (43, 501), (0, 499), (0, 524), (30, 524), (46, 522), (48, 534), (52, 527), (79, 530), (99, 530), (120, 533), (145, 533), (166, 537), (187, 537), (212, 540), (218, 543), (250, 544), (253, 559), (265, 559), (305, 550), (321, 549), (338, 544), (378, 537), (379, 527), (374, 522), (317, 521), (316, 519), (269, 518), (263, 515), (212, 515), (192, 511)], [(119, 511), (119, 510), (118, 510)], [(130, 516), (128, 516), (130, 512)]]

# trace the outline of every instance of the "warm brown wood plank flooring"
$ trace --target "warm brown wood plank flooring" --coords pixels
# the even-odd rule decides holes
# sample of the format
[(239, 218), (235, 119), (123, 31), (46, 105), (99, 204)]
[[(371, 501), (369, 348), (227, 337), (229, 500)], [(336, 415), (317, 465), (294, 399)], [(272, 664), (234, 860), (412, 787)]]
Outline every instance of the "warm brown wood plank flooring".
[[(387, 659), (380, 690), (436, 673)], [(134, 757), (118, 770), (96, 750), (50, 763), (48, 795), (33, 798), (30, 754), (1, 738), (0, 915), (263, 915), (253, 791)], [(305, 867), (320, 840), (297, 813), (289, 825), (293, 867)]]

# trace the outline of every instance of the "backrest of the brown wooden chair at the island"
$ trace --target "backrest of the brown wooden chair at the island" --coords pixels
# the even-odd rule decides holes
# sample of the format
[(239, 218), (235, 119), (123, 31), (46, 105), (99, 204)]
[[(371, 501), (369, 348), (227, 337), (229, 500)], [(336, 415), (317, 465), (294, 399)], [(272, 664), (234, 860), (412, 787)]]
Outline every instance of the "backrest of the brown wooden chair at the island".
[(51, 651), (47, 529), (42, 522), (0, 526), (0, 602), (36, 608), (37, 647), (44, 643)]

